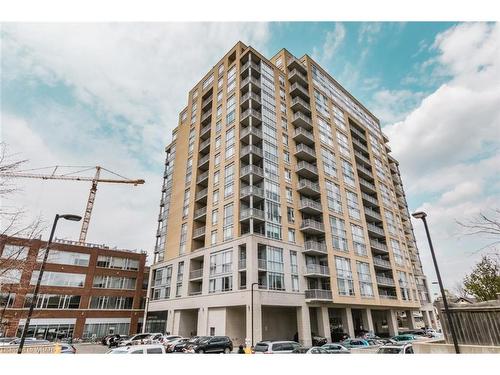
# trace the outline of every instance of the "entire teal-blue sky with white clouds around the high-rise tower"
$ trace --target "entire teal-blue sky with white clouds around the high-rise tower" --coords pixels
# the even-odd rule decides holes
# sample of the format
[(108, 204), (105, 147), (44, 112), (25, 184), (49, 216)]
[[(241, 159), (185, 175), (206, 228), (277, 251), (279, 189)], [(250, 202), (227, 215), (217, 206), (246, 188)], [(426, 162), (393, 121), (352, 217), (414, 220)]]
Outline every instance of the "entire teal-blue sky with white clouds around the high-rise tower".
[[(1, 140), (26, 168), (102, 165), (142, 186), (100, 184), (87, 241), (152, 252), (164, 147), (188, 91), (238, 40), (309, 54), (381, 122), (410, 211), (425, 210), (446, 287), (488, 238), (457, 225), (500, 207), (496, 23), (2, 24)], [(83, 213), (89, 183), (17, 179), (23, 220)], [(422, 223), (424, 271), (435, 279)], [(61, 222), (57, 237), (78, 239)], [(437, 290), (434, 290), (437, 291)]]

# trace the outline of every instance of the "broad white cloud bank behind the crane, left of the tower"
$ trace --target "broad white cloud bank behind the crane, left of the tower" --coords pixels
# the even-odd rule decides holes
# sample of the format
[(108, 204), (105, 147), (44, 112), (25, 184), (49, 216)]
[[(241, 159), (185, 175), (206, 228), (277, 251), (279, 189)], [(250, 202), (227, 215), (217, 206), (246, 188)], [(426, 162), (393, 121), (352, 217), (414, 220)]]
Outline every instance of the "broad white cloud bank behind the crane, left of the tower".
[[(100, 184), (88, 241), (148, 251), (155, 242), (163, 148), (187, 92), (238, 40), (267, 51), (268, 39), (268, 25), (260, 23), (4, 24), (2, 32), (2, 85), (64, 82), (76, 99), (57, 104), (49, 96), (33, 100), (29, 111), (2, 108), (2, 139), (33, 168), (103, 165), (144, 178), (137, 187)], [(82, 213), (90, 188), (18, 183), (23, 192), (15, 203), (49, 223), (58, 212)], [(58, 236), (77, 239), (79, 229), (61, 223)]]

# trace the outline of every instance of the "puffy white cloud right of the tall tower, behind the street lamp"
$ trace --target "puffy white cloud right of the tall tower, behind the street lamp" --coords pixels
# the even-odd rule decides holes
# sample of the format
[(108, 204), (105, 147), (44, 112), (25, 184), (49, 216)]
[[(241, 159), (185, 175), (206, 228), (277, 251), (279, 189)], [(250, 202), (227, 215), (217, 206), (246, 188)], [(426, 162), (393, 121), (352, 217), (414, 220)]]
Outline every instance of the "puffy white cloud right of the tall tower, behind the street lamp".
[[(443, 277), (469, 272), (484, 239), (464, 238), (456, 220), (499, 207), (500, 26), (460, 24), (439, 34), (435, 77), (449, 77), (403, 120), (386, 126), (413, 209), (429, 214)], [(497, 187), (495, 189), (495, 186)], [(415, 226), (426, 270), (433, 269), (421, 224)]]

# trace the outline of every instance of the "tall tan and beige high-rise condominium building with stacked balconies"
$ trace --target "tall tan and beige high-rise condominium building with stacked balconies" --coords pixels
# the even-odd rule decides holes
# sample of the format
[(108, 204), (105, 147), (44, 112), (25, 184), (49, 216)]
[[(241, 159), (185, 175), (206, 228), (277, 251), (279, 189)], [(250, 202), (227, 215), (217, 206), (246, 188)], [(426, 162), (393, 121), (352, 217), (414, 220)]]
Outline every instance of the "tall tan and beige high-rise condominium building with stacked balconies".
[(237, 43), (166, 147), (147, 329), (307, 345), (434, 325), (390, 151), (309, 56)]

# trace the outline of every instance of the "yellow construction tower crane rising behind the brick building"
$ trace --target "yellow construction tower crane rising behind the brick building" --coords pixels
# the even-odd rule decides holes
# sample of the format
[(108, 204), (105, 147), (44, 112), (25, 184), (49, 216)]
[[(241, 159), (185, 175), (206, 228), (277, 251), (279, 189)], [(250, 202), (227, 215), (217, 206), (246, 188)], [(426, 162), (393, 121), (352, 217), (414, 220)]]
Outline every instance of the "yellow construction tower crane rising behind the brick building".
[[(83, 168), (83, 169), (78, 169), (74, 172), (56, 174), (56, 172), (58, 170), (61, 170), (64, 168), (68, 168), (68, 169)], [(35, 171), (46, 170), (46, 169), (52, 169), (52, 173), (50, 173), (50, 174), (33, 173)], [(90, 170), (95, 170), (95, 174), (93, 177), (79, 175), (80, 173), (88, 172)], [(116, 176), (118, 178), (101, 178), (101, 171), (108, 172), (111, 175)], [(55, 165), (55, 166), (45, 167), (45, 168), (26, 169), (26, 170), (17, 171), (17, 172), (1, 173), (0, 177), (21, 177), (21, 178), (39, 178), (42, 180), (67, 180), (67, 181), (90, 181), (90, 182), (92, 182), (92, 186), (90, 187), (89, 198), (87, 200), (87, 207), (85, 208), (85, 213), (83, 215), (82, 229), (80, 230), (80, 238), (78, 240), (79, 243), (84, 243), (85, 239), (87, 238), (87, 231), (88, 231), (89, 224), (90, 224), (90, 216), (92, 215), (92, 208), (94, 207), (95, 196), (97, 193), (97, 184), (99, 182), (106, 182), (106, 183), (112, 183), (112, 184), (132, 184), (134, 186), (144, 184), (144, 180), (142, 180), (142, 179), (131, 180), (131, 179), (128, 179), (126, 177), (120, 176), (119, 174), (112, 172), (112, 171), (110, 171), (104, 167), (101, 167), (101, 166), (77, 167), (77, 166)]]

